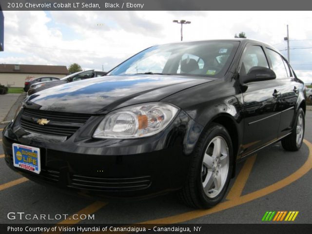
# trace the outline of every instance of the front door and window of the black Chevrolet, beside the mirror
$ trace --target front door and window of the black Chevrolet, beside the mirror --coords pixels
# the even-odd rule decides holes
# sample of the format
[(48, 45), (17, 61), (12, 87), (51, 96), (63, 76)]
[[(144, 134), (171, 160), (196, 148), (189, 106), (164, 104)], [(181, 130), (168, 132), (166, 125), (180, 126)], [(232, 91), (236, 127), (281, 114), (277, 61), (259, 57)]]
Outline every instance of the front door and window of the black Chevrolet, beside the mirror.
[[(244, 49), (239, 63), (239, 74), (248, 74), (254, 67), (270, 68), (261, 44), (250, 43)], [(242, 86), (245, 156), (274, 140), (278, 136), (280, 112), (277, 103), (280, 100), (280, 85), (277, 80), (255, 81)]]

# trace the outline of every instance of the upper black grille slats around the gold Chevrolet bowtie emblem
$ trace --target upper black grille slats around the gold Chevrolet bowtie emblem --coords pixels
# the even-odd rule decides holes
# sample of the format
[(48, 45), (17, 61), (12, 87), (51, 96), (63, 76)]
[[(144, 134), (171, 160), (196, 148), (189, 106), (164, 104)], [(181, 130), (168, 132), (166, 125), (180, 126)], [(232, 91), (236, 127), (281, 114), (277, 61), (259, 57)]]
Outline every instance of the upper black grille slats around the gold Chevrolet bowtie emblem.
[[(69, 137), (90, 117), (91, 116), (87, 114), (24, 109), (20, 119), (20, 126), (29, 132)], [(49, 120), (49, 122), (45, 125), (39, 125), (37, 120), (42, 118)]]

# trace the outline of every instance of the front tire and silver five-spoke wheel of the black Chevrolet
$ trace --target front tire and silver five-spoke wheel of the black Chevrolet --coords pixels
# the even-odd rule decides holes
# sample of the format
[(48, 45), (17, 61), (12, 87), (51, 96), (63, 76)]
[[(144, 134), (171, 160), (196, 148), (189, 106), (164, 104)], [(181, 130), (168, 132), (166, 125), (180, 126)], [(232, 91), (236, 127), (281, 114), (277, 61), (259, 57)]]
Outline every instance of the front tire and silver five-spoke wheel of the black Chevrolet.
[(232, 175), (233, 145), (226, 128), (216, 123), (210, 125), (198, 139), (192, 156), (179, 199), (190, 207), (211, 208), (224, 197)]

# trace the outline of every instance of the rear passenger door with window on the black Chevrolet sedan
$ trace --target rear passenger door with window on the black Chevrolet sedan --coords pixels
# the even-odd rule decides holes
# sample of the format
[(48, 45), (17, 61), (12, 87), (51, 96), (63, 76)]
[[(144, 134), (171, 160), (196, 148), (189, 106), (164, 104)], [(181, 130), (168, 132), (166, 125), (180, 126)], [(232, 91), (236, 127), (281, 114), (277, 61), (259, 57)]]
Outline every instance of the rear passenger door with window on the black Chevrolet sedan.
[(292, 130), (300, 83), (294, 78), (294, 74), (292, 74), (286, 59), (269, 48), (267, 48), (266, 52), (272, 64), (272, 70), (276, 74), (276, 80), (278, 80), (280, 85), (281, 99), (278, 103), (278, 109), (281, 112), (281, 121), (278, 137), (283, 137)]

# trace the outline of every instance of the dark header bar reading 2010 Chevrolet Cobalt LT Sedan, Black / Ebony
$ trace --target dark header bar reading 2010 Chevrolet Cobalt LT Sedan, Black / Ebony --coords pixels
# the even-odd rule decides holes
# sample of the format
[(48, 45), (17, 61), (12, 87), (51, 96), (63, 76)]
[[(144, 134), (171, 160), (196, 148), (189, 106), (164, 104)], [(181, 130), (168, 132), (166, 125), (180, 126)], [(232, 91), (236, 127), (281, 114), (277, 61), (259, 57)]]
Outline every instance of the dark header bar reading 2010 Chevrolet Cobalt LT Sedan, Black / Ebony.
[(309, 0), (0, 0), (0, 5), (3, 11), (312, 10)]

